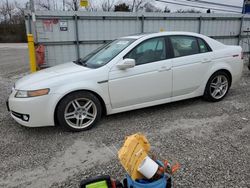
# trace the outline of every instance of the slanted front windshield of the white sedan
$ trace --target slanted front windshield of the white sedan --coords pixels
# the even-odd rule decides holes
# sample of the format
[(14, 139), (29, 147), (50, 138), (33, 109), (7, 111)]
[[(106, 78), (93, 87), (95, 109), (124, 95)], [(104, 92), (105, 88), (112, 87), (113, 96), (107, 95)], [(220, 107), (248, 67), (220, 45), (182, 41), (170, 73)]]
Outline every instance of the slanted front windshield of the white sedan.
[(76, 61), (89, 68), (98, 68), (106, 65), (122, 50), (128, 47), (135, 39), (117, 39), (94, 50), (84, 58)]

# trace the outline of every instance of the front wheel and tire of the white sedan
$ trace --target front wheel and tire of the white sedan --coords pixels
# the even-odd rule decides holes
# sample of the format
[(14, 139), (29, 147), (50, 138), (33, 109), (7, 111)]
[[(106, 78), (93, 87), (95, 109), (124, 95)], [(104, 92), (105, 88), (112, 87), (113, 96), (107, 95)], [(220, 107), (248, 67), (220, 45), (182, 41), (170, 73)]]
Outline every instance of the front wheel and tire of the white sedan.
[(71, 131), (91, 129), (102, 115), (99, 99), (87, 91), (78, 91), (65, 96), (58, 104), (56, 117), (59, 125)]

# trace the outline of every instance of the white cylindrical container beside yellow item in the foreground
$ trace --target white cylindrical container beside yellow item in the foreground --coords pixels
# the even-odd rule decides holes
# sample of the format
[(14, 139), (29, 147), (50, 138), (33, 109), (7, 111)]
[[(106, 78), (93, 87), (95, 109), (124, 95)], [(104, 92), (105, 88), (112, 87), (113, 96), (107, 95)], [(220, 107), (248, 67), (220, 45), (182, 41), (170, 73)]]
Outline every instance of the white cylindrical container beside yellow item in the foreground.
[(145, 157), (138, 167), (138, 171), (146, 178), (152, 178), (158, 170), (159, 165), (149, 156)]

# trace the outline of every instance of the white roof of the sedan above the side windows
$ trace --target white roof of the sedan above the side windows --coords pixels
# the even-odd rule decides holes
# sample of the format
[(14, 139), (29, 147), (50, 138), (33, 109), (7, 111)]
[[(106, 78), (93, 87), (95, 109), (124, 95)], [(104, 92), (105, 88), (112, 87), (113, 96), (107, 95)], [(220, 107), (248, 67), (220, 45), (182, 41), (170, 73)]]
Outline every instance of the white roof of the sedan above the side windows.
[(167, 32), (156, 32), (156, 33), (139, 33), (135, 35), (130, 35), (124, 38), (130, 38), (130, 39), (139, 39), (142, 37), (158, 37), (158, 36), (166, 36), (166, 35), (188, 35), (188, 36), (196, 36), (196, 37), (201, 37), (204, 38), (204, 35), (198, 34), (198, 33), (193, 33), (193, 32), (183, 32), (183, 31), (167, 31)]

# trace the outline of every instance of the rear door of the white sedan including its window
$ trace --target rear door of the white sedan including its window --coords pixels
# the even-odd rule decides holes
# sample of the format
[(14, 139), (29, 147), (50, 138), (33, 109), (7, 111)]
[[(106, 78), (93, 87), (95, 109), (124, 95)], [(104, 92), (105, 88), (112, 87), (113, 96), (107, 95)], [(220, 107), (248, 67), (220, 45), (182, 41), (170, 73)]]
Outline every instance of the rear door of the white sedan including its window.
[(173, 49), (173, 97), (194, 92), (211, 66), (211, 48), (200, 38), (170, 36)]

